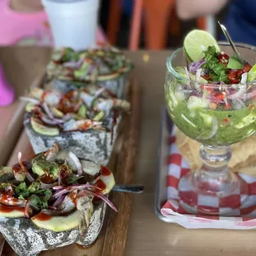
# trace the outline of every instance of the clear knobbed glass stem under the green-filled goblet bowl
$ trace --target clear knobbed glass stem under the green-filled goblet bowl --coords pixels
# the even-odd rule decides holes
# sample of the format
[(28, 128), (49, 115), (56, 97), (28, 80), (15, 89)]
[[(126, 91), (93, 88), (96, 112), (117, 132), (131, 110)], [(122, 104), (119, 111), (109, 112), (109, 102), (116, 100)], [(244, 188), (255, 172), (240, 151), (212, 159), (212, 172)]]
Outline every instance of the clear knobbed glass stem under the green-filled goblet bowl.
[(202, 145), (200, 158), (203, 164), (192, 178), (192, 184), (197, 187), (198, 192), (209, 196), (219, 192), (221, 196), (222, 185), (227, 182), (230, 183), (230, 187), (228, 187), (228, 191), (225, 188), (225, 193), (237, 188), (237, 177), (228, 168), (231, 159), (230, 146), (211, 147)]

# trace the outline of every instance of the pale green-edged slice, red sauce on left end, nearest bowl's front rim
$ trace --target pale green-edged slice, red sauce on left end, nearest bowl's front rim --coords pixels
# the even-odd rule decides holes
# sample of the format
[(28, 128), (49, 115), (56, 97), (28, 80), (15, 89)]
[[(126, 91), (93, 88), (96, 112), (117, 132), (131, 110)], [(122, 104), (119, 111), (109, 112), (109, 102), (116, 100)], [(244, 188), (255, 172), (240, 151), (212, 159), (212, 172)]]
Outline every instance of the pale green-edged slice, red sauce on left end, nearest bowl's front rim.
[(49, 211), (41, 211), (31, 218), (32, 222), (41, 229), (55, 232), (72, 230), (79, 225), (80, 212), (73, 211), (68, 216), (51, 216)]

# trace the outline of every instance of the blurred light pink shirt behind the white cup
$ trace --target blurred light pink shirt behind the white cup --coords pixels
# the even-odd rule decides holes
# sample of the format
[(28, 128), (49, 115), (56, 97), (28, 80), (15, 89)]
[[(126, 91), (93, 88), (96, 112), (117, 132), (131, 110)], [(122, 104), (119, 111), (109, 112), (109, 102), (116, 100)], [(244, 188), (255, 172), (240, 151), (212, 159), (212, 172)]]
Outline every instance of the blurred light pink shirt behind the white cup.
[[(10, 0), (0, 0), (0, 45), (53, 45), (44, 11), (17, 12), (9, 3)], [(100, 27), (97, 28), (97, 42), (106, 42)]]

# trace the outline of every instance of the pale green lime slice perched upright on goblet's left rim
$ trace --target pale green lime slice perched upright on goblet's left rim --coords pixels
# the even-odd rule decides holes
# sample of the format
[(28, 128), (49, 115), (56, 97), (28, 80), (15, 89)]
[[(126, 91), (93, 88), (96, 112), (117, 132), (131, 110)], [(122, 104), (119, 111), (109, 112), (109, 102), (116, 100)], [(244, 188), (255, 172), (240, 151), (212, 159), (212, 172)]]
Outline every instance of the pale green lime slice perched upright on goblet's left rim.
[(204, 57), (204, 51), (209, 46), (215, 46), (216, 51), (220, 52), (220, 46), (215, 38), (206, 31), (194, 30), (187, 34), (184, 40), (184, 50), (192, 61), (199, 61)]

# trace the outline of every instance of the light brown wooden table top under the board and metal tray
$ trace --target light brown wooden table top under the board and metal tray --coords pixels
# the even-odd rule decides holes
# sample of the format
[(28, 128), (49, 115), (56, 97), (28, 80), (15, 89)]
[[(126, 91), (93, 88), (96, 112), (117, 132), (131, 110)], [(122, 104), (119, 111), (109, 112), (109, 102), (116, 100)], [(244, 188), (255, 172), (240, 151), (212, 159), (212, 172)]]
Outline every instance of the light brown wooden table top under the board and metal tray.
[[(186, 230), (178, 225), (164, 223), (154, 215), (160, 111), (164, 106), (165, 62), (170, 51), (126, 53), (135, 63), (135, 75), (143, 90), (136, 180), (145, 185), (145, 192), (133, 197), (125, 256), (255, 255), (254, 230)], [(9, 67), (7, 78), (18, 93), (28, 88), (33, 81), (35, 83), (36, 78), (44, 72), (49, 56), (50, 50), (44, 48), (0, 48), (0, 61)], [(13, 109), (13, 106), (0, 108), (0, 114), (2, 116), (4, 111), (5, 116), (7, 112), (12, 116)], [(7, 124), (6, 120), (0, 124), (1, 140), (7, 129), (3, 122)], [(2, 154), (2, 147), (0, 149)], [(64, 250), (62, 252), (61, 255), (68, 256)], [(73, 255), (78, 254), (74, 252)], [(83, 256), (93, 256), (93, 252), (84, 250)]]

